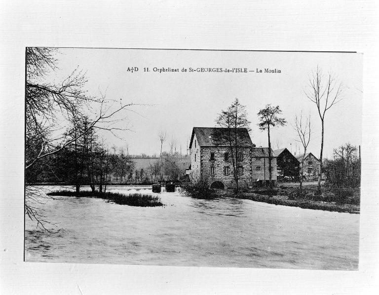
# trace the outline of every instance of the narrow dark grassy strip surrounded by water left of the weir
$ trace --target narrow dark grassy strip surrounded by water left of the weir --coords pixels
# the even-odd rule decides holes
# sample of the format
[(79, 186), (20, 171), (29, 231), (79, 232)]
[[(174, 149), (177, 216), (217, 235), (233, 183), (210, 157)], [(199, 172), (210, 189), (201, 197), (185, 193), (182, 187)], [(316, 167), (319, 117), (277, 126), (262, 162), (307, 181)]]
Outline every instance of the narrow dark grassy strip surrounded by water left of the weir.
[(128, 205), (128, 206), (137, 206), (137, 207), (157, 207), (163, 206), (160, 202), (160, 198), (157, 196), (152, 196), (150, 194), (122, 194), (118, 192), (106, 192), (99, 193), (95, 191), (80, 191), (79, 195), (76, 195), (76, 192), (73, 190), (58, 190), (48, 192), (49, 196), (69, 196), (69, 197), (92, 197), (100, 198), (107, 200), (108, 202), (113, 202), (118, 205)]

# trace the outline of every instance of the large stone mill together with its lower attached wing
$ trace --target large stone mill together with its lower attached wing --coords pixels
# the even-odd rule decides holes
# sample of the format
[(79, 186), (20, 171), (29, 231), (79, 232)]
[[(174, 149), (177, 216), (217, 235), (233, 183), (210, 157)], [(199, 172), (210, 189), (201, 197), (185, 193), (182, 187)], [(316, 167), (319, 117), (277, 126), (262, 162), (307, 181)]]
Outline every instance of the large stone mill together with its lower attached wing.
[[(233, 188), (233, 161), (229, 143), (223, 138), (228, 128), (194, 127), (189, 143), (190, 179), (207, 177), (212, 188)], [(234, 132), (234, 129), (233, 129)], [(269, 180), (268, 148), (255, 147), (246, 128), (237, 129), (237, 173), (240, 187)], [(276, 182), (276, 155), (272, 154), (272, 181)]]

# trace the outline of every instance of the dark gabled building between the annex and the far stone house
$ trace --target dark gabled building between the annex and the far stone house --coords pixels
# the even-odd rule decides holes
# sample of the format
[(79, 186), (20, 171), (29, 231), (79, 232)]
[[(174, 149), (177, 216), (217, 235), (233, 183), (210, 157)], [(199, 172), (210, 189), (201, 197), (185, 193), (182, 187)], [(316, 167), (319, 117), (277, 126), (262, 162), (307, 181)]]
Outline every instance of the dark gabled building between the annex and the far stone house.
[(285, 147), (275, 149), (276, 163), (277, 163), (277, 177), (284, 180), (289, 177), (291, 180), (298, 181), (300, 173), (299, 160)]

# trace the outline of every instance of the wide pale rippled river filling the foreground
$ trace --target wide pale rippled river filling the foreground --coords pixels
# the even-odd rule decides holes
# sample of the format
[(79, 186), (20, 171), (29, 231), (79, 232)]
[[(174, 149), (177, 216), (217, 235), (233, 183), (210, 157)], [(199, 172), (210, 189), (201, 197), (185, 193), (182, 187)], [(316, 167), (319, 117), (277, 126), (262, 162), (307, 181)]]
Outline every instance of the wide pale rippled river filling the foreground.
[[(59, 187), (48, 187), (58, 189)], [(109, 187), (124, 193), (151, 188)], [(156, 195), (156, 194), (154, 194)], [(164, 207), (59, 197), (39, 205), (61, 229), (26, 219), (25, 260), (356, 270), (359, 215), (241, 200), (157, 194)]]

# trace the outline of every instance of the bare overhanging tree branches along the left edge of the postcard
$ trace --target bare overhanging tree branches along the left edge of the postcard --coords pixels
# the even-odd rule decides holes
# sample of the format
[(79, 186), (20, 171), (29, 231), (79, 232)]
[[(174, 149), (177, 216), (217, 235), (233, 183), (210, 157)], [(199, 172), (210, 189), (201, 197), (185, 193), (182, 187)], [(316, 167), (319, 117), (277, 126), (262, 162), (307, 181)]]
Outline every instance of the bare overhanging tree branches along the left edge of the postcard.
[[(117, 136), (116, 130), (127, 130), (114, 125), (121, 111), (129, 111), (133, 103), (106, 99), (105, 95), (93, 97), (84, 90), (86, 78), (80, 71), (73, 71), (60, 82), (48, 79), (48, 73), (56, 71), (57, 50), (51, 48), (26, 49), (26, 99), (25, 99), (25, 172), (34, 169), (41, 160), (56, 155), (66, 147), (84, 137), (94, 128), (108, 130)], [(76, 128), (81, 118), (92, 112), (86, 124)], [(68, 126), (69, 125), (69, 126)], [(37, 209), (31, 202), (36, 200), (36, 189), (32, 189), (25, 178), (25, 214), (35, 219), (38, 227), (47, 229)]]

